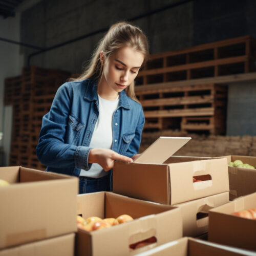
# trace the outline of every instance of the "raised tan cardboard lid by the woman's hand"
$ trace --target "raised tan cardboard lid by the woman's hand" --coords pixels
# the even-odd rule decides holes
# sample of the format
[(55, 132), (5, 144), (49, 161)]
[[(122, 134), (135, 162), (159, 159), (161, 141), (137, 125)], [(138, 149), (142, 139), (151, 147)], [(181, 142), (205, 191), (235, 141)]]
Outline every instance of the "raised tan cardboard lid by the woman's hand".
[(163, 163), (190, 139), (190, 137), (159, 137), (134, 162)]

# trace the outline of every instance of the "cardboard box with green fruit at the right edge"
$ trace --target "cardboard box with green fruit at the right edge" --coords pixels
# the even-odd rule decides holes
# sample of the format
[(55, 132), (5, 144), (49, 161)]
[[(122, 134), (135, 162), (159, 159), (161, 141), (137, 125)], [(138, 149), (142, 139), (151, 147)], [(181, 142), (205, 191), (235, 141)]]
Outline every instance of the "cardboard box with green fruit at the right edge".
[[(227, 163), (239, 159), (243, 163), (256, 166), (256, 157), (225, 156), (225, 158), (227, 159)], [(230, 200), (256, 192), (256, 169), (228, 166), (228, 176)]]

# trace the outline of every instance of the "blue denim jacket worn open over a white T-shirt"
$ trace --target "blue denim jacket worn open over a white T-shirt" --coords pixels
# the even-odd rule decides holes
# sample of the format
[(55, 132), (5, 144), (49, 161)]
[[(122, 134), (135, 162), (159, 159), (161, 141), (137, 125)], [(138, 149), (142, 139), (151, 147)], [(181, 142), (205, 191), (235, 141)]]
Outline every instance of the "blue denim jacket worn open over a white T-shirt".
[[(98, 116), (97, 81), (72, 81), (59, 87), (50, 112), (42, 118), (36, 147), (46, 170), (78, 177), (81, 168), (90, 169), (90, 142)], [(128, 157), (137, 154), (144, 122), (141, 104), (122, 91), (113, 114), (112, 150)]]

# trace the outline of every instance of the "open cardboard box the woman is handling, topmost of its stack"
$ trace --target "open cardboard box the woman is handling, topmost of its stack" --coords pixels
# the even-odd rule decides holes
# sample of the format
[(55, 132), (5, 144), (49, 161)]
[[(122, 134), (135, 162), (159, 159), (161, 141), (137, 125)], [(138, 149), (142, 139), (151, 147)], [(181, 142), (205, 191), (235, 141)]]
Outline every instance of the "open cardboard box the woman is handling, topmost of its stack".
[[(113, 191), (163, 204), (178, 204), (229, 191), (226, 159), (204, 159), (170, 157), (163, 164), (116, 161)], [(193, 183), (193, 176), (200, 176), (203, 182)]]

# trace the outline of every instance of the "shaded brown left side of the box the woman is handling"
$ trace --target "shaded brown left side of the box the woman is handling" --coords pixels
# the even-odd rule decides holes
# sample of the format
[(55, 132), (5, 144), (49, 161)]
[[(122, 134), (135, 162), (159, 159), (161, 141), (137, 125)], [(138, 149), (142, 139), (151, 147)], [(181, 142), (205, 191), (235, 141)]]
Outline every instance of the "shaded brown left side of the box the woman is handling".
[(113, 192), (168, 204), (170, 198), (168, 166), (115, 161)]

